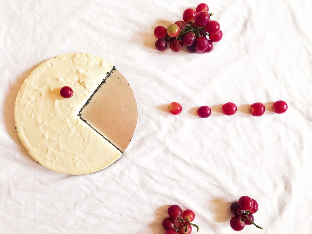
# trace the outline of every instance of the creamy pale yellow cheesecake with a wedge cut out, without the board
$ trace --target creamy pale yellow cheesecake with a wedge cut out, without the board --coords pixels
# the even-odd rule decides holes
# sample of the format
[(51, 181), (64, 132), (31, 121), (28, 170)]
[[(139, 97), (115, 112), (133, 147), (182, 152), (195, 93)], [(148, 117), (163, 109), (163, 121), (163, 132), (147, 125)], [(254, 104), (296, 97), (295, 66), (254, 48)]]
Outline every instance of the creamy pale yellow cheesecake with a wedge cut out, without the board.
[[(41, 165), (66, 174), (87, 174), (114, 163), (121, 152), (78, 117), (99, 84), (113, 69), (104, 59), (84, 53), (51, 58), (25, 79), (16, 98), (17, 134)], [(71, 98), (60, 90), (70, 86)]]

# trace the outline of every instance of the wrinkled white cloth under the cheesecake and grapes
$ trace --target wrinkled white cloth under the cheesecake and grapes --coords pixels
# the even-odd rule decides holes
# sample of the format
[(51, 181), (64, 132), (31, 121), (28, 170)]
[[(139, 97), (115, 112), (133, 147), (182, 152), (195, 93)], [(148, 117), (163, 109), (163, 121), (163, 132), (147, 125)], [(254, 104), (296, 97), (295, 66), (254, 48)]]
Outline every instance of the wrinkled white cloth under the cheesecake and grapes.
[[(312, 1), (211, 0), (223, 32), (211, 53), (157, 51), (154, 27), (198, 3), (0, 1), (0, 233), (164, 233), (171, 204), (195, 212), (198, 233), (235, 233), (229, 207), (242, 195), (258, 201), (264, 230), (241, 233), (312, 232)], [(36, 163), (13, 118), (27, 75), (71, 52), (115, 64), (139, 112), (123, 156), (82, 176)], [(272, 112), (277, 100), (284, 114)], [(173, 101), (180, 115), (167, 112)], [(238, 111), (223, 115), (230, 101)], [(261, 117), (248, 112), (254, 102), (266, 105)]]

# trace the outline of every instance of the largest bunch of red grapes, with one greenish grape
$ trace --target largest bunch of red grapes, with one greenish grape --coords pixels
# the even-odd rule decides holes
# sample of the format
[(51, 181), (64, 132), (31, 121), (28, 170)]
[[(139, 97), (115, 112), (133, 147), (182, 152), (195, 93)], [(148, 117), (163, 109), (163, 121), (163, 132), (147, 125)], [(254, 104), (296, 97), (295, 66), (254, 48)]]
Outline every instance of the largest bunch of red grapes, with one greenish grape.
[(155, 27), (156, 49), (164, 51), (169, 43), (173, 52), (181, 51), (183, 46), (191, 53), (212, 51), (213, 42), (220, 41), (223, 34), (220, 24), (210, 19), (213, 14), (208, 11), (208, 5), (200, 3), (196, 10), (188, 8), (183, 12), (183, 21), (176, 21), (167, 28)]

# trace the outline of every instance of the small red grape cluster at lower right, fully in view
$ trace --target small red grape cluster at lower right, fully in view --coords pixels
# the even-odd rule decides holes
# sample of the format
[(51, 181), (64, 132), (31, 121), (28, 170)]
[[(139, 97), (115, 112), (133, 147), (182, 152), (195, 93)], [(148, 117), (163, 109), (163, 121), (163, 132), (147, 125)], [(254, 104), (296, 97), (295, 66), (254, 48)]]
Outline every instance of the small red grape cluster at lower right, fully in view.
[(230, 220), (230, 226), (234, 231), (241, 231), (245, 225), (255, 225), (257, 228), (263, 229), (254, 223), (255, 218), (252, 214), (258, 211), (258, 202), (248, 196), (242, 196), (238, 202), (231, 204), (231, 212), (235, 215)]

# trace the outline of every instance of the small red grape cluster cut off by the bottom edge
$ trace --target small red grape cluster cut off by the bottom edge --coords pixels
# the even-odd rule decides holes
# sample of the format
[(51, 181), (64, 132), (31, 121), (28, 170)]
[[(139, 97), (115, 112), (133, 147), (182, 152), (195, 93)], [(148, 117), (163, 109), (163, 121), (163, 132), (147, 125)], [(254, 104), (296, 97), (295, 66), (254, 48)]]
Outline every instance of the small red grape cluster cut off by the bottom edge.
[(168, 207), (168, 218), (163, 220), (163, 229), (166, 230), (165, 234), (190, 234), (192, 232), (192, 226), (199, 227), (191, 223), (195, 218), (195, 213), (187, 209), (182, 212), (181, 207), (178, 205), (171, 205)]

